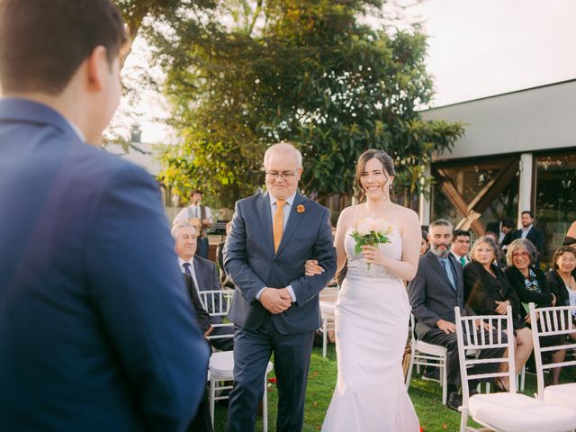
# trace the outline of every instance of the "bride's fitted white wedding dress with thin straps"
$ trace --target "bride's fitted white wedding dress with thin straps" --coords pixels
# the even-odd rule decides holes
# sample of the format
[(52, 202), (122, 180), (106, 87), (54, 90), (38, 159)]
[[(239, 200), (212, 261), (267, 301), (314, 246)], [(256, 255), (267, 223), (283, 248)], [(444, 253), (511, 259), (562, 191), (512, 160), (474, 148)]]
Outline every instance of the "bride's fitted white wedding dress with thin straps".
[[(383, 254), (401, 259), (397, 229)], [(338, 383), (322, 431), (418, 432), (419, 420), (406, 392), (402, 356), (410, 303), (403, 282), (383, 267), (367, 269), (345, 239), (347, 276), (336, 303)]]

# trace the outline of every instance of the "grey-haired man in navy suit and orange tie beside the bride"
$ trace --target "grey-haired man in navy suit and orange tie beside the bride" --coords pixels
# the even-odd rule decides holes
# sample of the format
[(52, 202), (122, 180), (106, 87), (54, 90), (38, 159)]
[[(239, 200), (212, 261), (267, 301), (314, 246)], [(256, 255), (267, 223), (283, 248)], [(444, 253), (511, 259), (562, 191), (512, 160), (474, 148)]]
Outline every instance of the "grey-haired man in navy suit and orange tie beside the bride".
[[(336, 272), (329, 211), (296, 192), (302, 156), (288, 143), (264, 157), (267, 193), (236, 203), (224, 266), (238, 287), (229, 317), (236, 325), (234, 389), (228, 430), (253, 431), (272, 353), (278, 386), (278, 431), (302, 430), (318, 293)], [(304, 262), (326, 271), (305, 276)]]

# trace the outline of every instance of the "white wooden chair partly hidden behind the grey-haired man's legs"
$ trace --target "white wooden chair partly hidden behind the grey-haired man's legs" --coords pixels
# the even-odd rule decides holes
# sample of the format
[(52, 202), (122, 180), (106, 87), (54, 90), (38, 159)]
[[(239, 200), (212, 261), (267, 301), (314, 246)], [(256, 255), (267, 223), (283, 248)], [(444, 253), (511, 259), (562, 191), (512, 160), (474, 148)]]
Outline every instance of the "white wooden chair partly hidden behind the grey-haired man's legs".
[[(228, 316), (229, 307), (232, 303), (234, 290), (211, 290), (198, 291), (200, 302), (211, 317)], [(231, 322), (222, 322), (221, 324), (212, 324), (213, 327), (234, 327)], [(229, 335), (207, 336), (208, 339), (229, 338)], [(274, 365), (268, 362), (266, 365), (266, 376), (270, 374)], [(208, 380), (210, 382), (210, 417), (212, 428), (214, 427), (214, 405), (216, 401), (228, 399), (228, 394), (221, 394), (221, 391), (231, 390), (232, 385), (220, 385), (221, 382), (234, 381), (234, 352), (217, 351), (210, 357), (208, 366)], [(262, 430), (268, 430), (268, 388), (266, 379), (264, 380), (264, 395), (262, 397)]]

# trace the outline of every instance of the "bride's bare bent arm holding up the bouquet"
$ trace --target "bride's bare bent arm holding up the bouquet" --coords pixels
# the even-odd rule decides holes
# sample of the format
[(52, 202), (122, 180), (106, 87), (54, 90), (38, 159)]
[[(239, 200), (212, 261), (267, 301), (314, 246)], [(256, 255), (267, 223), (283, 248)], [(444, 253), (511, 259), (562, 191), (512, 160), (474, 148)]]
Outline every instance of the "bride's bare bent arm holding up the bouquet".
[(418, 270), (422, 231), (418, 214), (415, 211), (404, 209), (400, 219), (402, 231), (401, 261), (386, 257), (376, 247), (365, 246), (363, 249), (365, 258), (367, 258), (366, 262), (383, 266), (388, 273), (400, 277), (404, 281), (411, 281)]

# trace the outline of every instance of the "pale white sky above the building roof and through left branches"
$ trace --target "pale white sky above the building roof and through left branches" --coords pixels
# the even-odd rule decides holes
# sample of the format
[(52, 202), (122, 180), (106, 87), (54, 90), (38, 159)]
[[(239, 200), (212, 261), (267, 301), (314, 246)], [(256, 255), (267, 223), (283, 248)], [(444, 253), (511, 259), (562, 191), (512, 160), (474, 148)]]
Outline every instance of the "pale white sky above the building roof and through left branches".
[[(433, 106), (576, 78), (576, 0), (425, 0), (407, 15), (428, 34)], [(161, 141), (161, 98), (144, 99), (142, 139)]]

